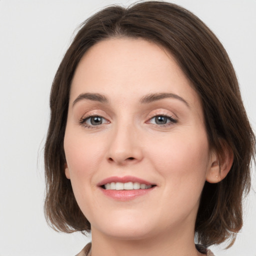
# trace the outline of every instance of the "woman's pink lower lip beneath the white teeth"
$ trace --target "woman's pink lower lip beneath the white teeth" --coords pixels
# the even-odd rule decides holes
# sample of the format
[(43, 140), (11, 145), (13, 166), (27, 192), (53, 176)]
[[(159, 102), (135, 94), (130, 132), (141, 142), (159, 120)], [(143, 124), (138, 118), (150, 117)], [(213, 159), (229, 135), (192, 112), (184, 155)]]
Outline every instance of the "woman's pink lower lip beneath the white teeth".
[(109, 196), (113, 199), (119, 201), (132, 200), (138, 196), (145, 195), (151, 192), (155, 186), (147, 189), (132, 189), (132, 190), (112, 190), (112, 189), (103, 189), (100, 187), (104, 195)]

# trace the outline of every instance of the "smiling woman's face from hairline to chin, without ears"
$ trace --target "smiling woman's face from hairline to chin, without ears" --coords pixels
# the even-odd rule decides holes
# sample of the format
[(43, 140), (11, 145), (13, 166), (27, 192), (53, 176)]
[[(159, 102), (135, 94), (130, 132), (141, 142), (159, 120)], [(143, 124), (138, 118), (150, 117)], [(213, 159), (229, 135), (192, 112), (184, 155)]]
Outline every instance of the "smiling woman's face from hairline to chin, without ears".
[(212, 159), (199, 97), (163, 48), (115, 38), (85, 53), (71, 84), (64, 151), (92, 234), (193, 232)]

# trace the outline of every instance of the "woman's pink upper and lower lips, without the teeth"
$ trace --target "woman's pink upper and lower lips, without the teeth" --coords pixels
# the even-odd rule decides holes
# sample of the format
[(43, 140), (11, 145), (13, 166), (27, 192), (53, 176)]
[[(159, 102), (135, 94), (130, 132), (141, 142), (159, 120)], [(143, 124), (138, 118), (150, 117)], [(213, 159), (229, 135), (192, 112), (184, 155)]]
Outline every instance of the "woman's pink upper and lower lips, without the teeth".
[(155, 188), (155, 186), (152, 186), (151, 188), (147, 188), (147, 189), (132, 189), (132, 190), (111, 190), (111, 189), (102, 188), (102, 185), (106, 183), (111, 183), (111, 182), (122, 182), (122, 183), (139, 182), (141, 184), (146, 184), (146, 185), (153, 185), (153, 184), (151, 182), (148, 182), (146, 180), (133, 177), (133, 176), (124, 176), (124, 177), (112, 176), (112, 177), (108, 177), (101, 180), (97, 185), (99, 189), (103, 192), (103, 194), (118, 201), (126, 201), (126, 200), (134, 199), (138, 196), (148, 194), (150, 191), (152, 191)]

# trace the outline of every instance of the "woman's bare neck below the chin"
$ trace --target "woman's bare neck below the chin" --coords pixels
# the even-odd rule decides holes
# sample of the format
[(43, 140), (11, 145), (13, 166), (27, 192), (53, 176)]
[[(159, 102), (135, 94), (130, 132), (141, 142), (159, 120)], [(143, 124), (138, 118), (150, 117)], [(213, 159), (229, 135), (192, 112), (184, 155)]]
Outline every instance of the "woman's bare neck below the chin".
[[(118, 239), (91, 229), (91, 256), (199, 256), (194, 245), (193, 228), (189, 232), (179, 228), (175, 232), (155, 233), (141, 239)], [(205, 256), (205, 255), (204, 255)]]

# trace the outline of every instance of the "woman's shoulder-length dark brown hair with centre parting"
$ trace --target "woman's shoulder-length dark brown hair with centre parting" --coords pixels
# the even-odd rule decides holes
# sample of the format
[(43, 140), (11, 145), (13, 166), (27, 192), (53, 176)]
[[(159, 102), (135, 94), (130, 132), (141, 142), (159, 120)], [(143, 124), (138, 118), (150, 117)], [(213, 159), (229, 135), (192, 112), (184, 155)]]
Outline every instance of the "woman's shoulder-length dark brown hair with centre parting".
[(56, 230), (90, 230), (90, 223), (75, 201), (70, 180), (65, 177), (63, 138), (75, 68), (93, 44), (109, 37), (139, 37), (162, 45), (175, 57), (197, 91), (210, 146), (221, 161), (223, 143), (227, 144), (234, 160), (221, 182), (205, 182), (195, 232), (198, 241), (206, 246), (227, 238), (232, 242), (242, 226), (242, 197), (250, 187), (254, 134), (222, 44), (194, 14), (160, 1), (104, 8), (81, 25), (66, 51), (50, 94), (51, 116), (44, 149), (46, 219)]

